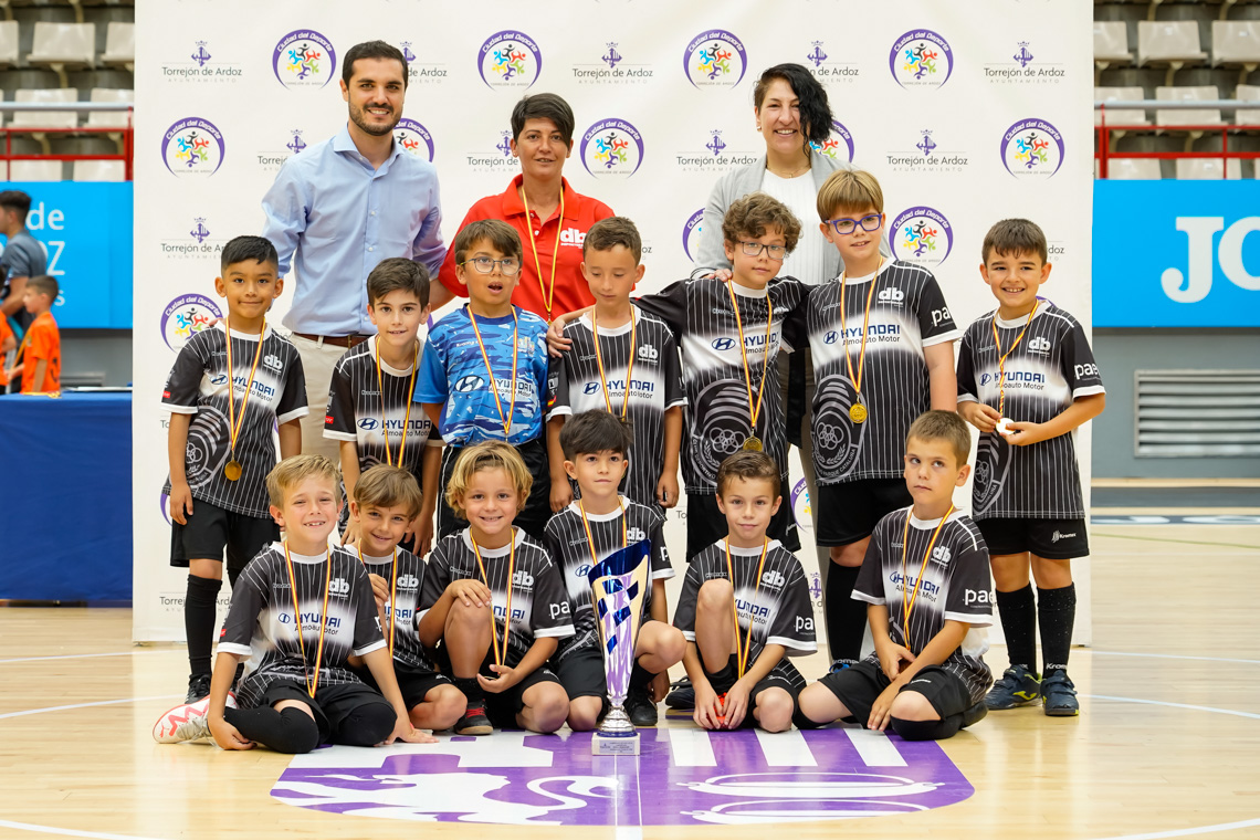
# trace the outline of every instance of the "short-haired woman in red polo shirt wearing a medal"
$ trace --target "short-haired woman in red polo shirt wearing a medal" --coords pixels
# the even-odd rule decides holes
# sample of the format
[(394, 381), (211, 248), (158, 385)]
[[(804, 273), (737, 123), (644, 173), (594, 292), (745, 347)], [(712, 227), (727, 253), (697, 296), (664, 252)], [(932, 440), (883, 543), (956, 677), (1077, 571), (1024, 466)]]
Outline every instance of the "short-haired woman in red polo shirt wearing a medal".
[[(556, 315), (595, 304), (582, 278), (582, 241), (591, 225), (614, 215), (602, 201), (575, 193), (564, 180), (573, 151), (573, 110), (554, 93), (537, 93), (512, 110), (512, 154), (520, 174), (499, 195), (469, 209), (460, 228), (480, 219), (501, 219), (520, 234), (524, 267), (512, 302), (551, 321)], [(455, 251), (431, 287), (433, 309), (467, 290), (455, 276)]]

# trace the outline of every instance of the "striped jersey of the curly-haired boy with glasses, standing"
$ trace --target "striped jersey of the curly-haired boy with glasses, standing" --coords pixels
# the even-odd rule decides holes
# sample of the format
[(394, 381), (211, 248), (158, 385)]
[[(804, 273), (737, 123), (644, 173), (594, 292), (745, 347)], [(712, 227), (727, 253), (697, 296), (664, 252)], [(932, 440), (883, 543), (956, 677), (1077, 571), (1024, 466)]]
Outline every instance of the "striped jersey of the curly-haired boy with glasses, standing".
[[(740, 325), (728, 290), (733, 290), (740, 306), (742, 354)], [(764, 290), (719, 280), (684, 280), (638, 300), (643, 310), (669, 325), (682, 350), (688, 404), (683, 441), (687, 492), (716, 492), (717, 468), (752, 436), (761, 440), (762, 451), (774, 458), (786, 479), (786, 419), (775, 358), (784, 344), (784, 321), (808, 296), (809, 288), (799, 280), (776, 277)], [(745, 380), (745, 355), (752, 382), (752, 404), (757, 402), (757, 393), (762, 393), (756, 429), (752, 428)]]

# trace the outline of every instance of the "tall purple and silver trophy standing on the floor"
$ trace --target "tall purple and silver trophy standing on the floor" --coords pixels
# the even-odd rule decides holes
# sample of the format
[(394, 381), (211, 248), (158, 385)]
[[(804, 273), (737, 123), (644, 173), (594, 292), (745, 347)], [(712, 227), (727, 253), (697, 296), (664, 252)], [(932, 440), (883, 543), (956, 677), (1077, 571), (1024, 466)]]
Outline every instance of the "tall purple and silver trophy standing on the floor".
[(614, 552), (587, 574), (612, 707), (591, 737), (592, 756), (639, 754), (639, 732), (622, 704), (630, 688), (634, 644), (650, 586), (650, 552), (651, 543), (641, 540)]

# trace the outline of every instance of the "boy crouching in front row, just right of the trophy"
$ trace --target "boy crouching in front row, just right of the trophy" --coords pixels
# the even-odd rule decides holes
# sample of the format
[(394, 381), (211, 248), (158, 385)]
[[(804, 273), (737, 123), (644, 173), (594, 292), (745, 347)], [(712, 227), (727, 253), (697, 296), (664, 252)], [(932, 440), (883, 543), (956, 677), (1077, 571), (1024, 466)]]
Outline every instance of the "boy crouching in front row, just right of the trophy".
[[(738, 261), (736, 261), (738, 264)], [(674, 626), (706, 729), (791, 728), (805, 678), (786, 656), (816, 650), (809, 583), (800, 560), (766, 531), (779, 510), (779, 466), (737, 452), (717, 474), (726, 535), (692, 558)], [(733, 654), (731, 651), (735, 651)]]

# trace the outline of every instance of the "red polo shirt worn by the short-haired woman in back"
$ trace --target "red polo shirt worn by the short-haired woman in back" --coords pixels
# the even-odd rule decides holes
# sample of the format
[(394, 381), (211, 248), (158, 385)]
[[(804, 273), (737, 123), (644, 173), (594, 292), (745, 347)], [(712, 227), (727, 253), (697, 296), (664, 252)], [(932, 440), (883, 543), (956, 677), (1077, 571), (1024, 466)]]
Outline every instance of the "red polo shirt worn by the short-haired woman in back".
[[(467, 215), (464, 217), (464, 220), (460, 222), (460, 229), (462, 230), (470, 222), (479, 222), (481, 219), (499, 219), (517, 229), (517, 233), (520, 236), (524, 257), (520, 276), (517, 278), (517, 288), (512, 292), (512, 302), (517, 306), (547, 320), (564, 312), (591, 306), (595, 304), (595, 298), (591, 297), (591, 291), (582, 277), (581, 270), (582, 242), (586, 239), (586, 232), (591, 229), (591, 225), (600, 219), (614, 215), (612, 210), (602, 201), (596, 201), (586, 195), (578, 195), (570, 188), (567, 180), (561, 179), (564, 190), (563, 229), (559, 229), (559, 208), (556, 208), (556, 213), (541, 224), (538, 214), (530, 208), (529, 219), (527, 220), (525, 205), (520, 200), (520, 183), (523, 180), (524, 175), (517, 175), (501, 195), (486, 195), (474, 204), (469, 209)], [(538, 263), (534, 262), (533, 248), (529, 247), (530, 232), (527, 224), (533, 225), (534, 247), (538, 248), (538, 263), (542, 263), (542, 271), (539, 271)], [(548, 315), (544, 295), (546, 287), (551, 283), (552, 258), (556, 251), (556, 232), (558, 229), (559, 262), (556, 264), (556, 293), (552, 298), (551, 315)], [(542, 286), (538, 282), (539, 275), (542, 275)], [(467, 288), (455, 276), (454, 247), (446, 252), (446, 259), (442, 262), (442, 268), (437, 278), (452, 295), (467, 297)]]

